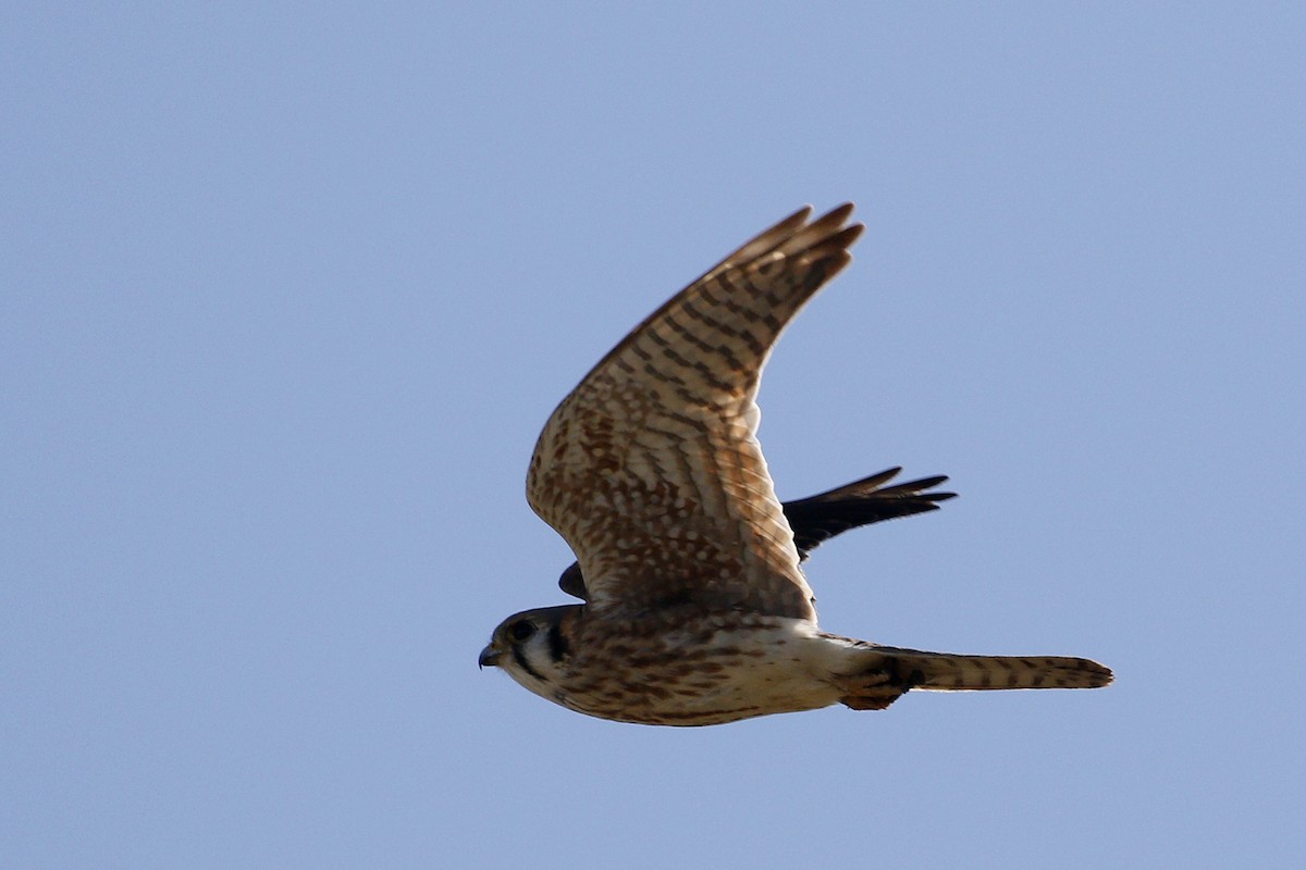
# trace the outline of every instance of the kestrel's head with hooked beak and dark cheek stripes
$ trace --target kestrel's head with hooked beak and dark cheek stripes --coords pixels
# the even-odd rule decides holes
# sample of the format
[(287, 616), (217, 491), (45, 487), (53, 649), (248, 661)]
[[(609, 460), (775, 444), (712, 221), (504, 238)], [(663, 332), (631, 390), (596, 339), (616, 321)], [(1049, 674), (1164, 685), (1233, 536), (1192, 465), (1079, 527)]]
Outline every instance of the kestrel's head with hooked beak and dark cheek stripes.
[(537, 695), (552, 700), (571, 656), (571, 627), (582, 604), (515, 613), (494, 630), (477, 660), (482, 668), (503, 668)]

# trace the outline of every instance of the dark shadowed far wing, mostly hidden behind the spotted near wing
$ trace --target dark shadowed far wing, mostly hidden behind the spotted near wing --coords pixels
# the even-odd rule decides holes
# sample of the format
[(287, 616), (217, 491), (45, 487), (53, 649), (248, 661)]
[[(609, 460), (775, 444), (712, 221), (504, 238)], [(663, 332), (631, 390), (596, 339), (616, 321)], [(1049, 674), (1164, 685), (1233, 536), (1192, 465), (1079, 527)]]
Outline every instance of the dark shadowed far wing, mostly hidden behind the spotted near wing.
[[(798, 561), (804, 562), (820, 544), (850, 528), (899, 517), (912, 517), (930, 510), (938, 510), (940, 501), (956, 498), (956, 493), (925, 492), (947, 480), (946, 476), (922, 477), (885, 487), (902, 470), (888, 468), (862, 477), (845, 487), (829, 489), (818, 496), (786, 501), (781, 505), (785, 519), (794, 530), (794, 547), (798, 548)], [(572, 562), (558, 578), (558, 588), (582, 601), (589, 600), (585, 588), (585, 575), (580, 563)]]

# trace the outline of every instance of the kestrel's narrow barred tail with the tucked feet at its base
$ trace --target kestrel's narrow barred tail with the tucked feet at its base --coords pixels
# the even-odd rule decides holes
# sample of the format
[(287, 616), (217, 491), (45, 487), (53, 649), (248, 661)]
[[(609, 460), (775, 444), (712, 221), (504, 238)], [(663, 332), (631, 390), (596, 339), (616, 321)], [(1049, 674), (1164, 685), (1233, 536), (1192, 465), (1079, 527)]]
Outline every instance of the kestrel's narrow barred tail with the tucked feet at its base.
[(897, 647), (868, 647), (867, 669), (845, 678), (840, 700), (853, 710), (883, 710), (912, 689), (1100, 689), (1111, 669), (1067, 656), (961, 656)]

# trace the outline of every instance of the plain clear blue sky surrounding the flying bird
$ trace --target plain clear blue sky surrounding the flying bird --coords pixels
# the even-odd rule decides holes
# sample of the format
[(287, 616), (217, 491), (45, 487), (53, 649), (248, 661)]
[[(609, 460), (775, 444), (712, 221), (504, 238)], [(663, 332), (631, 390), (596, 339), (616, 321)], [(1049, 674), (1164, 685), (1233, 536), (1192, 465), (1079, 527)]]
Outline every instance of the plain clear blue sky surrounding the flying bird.
[[(4, 867), (1298, 866), (1298, 4), (9, 4)], [(804, 202), (831, 630), (1102, 691), (708, 729), (477, 652), (563, 601), (541, 425)]]

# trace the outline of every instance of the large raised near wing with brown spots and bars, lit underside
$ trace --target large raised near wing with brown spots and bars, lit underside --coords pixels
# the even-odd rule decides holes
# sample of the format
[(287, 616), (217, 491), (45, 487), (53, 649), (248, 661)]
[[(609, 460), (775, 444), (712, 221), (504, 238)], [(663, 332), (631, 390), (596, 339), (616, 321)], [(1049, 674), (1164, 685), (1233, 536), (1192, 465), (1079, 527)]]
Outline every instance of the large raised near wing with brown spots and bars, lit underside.
[(757, 443), (763, 365), (848, 265), (861, 224), (803, 209), (649, 316), (554, 411), (526, 498), (567, 540), (590, 604), (815, 618)]

